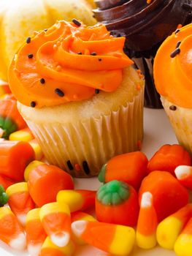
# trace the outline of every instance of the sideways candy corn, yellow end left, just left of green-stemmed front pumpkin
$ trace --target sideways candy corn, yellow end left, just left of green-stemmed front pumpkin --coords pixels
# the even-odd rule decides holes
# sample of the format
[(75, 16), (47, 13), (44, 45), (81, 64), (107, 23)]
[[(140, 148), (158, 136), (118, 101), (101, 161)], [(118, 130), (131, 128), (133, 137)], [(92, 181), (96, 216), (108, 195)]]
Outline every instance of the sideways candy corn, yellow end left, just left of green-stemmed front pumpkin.
[(96, 191), (91, 190), (61, 190), (58, 192), (57, 201), (66, 203), (71, 212), (84, 211), (95, 205)]

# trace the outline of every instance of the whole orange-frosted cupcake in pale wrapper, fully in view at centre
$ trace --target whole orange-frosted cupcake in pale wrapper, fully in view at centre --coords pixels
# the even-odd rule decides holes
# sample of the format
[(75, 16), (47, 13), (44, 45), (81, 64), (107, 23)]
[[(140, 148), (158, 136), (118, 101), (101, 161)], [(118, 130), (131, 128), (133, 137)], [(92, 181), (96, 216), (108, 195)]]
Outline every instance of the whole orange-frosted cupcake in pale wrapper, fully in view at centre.
[(58, 21), (15, 54), (9, 85), (48, 162), (90, 177), (142, 141), (144, 79), (104, 25)]

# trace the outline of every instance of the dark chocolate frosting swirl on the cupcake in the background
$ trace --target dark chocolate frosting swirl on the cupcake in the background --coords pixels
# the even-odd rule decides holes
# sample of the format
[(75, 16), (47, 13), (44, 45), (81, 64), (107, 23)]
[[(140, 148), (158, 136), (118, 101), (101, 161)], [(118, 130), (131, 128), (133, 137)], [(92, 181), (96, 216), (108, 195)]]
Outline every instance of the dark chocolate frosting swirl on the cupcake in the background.
[(191, 0), (95, 0), (96, 19), (112, 34), (127, 37), (131, 50), (150, 50), (191, 21)]

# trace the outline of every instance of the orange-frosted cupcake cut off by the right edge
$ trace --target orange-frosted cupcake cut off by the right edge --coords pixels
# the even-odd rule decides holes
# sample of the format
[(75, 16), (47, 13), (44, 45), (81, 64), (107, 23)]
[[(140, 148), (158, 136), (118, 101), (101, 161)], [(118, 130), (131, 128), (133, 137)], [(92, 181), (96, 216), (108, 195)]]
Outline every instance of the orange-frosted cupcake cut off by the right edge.
[(159, 48), (155, 86), (179, 143), (192, 153), (192, 24), (177, 29)]

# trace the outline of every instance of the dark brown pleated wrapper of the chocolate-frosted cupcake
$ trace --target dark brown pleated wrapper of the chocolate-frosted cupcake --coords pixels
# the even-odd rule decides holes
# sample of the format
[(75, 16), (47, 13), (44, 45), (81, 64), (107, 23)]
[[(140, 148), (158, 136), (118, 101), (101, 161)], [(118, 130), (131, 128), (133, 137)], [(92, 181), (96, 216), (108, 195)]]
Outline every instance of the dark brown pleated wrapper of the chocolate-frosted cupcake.
[(163, 108), (161, 104), (160, 95), (155, 89), (153, 80), (153, 61), (154, 58), (133, 58), (136, 66), (145, 75), (145, 102), (144, 105), (147, 108)]

